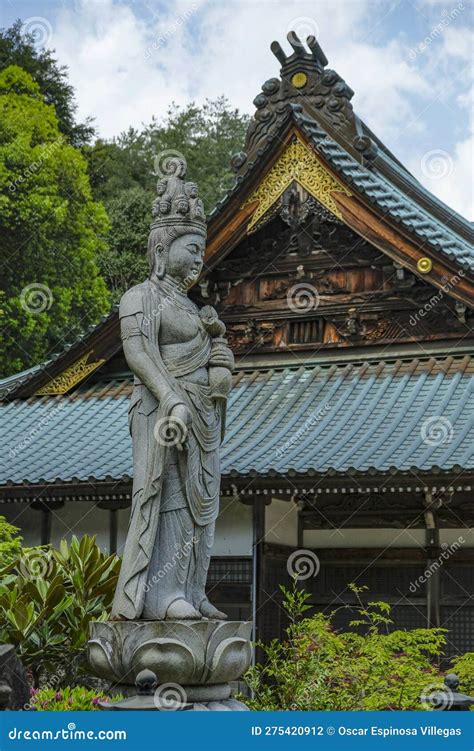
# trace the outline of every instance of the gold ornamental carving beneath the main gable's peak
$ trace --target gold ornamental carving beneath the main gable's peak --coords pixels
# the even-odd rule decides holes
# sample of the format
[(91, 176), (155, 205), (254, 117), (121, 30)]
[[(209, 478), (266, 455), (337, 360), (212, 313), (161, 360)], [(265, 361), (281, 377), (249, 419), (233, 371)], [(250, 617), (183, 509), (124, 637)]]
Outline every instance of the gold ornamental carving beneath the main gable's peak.
[(258, 201), (248, 230), (254, 227), (294, 180), (334, 216), (342, 219), (331, 194), (337, 191), (350, 196), (349, 190), (327, 171), (314, 151), (308, 148), (299, 138), (296, 138), (285, 149), (278, 161), (267, 172), (260, 185), (242, 206), (244, 208), (249, 203)]

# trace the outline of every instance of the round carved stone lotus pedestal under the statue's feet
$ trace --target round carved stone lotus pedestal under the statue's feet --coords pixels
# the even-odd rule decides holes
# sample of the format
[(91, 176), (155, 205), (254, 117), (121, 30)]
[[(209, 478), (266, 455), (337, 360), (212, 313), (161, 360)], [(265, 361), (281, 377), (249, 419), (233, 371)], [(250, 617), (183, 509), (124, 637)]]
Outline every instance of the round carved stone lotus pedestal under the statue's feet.
[(250, 665), (251, 627), (217, 620), (95, 621), (89, 666), (111, 682), (112, 693), (125, 696), (136, 693), (139, 673), (152, 671), (156, 709), (242, 710), (246, 706), (230, 698), (229, 684)]

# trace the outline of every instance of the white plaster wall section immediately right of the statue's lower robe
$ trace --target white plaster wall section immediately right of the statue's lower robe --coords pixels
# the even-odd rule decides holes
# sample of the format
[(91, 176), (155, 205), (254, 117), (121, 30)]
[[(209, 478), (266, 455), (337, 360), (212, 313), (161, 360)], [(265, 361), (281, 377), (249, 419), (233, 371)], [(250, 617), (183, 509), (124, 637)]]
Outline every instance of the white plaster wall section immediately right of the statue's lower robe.
[(252, 555), (252, 543), (252, 506), (221, 498), (212, 555)]

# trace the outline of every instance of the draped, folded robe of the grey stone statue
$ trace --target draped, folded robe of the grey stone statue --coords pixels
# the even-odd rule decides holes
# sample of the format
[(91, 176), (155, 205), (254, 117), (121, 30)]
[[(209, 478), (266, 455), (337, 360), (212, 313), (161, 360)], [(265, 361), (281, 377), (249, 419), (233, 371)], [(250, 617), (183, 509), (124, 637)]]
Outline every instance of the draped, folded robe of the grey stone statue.
[[(122, 337), (143, 337), (145, 351), (170, 391), (158, 402), (135, 376), (129, 409), (132, 511), (114, 617), (164, 618), (177, 599), (199, 607), (205, 598), (219, 503), (221, 416), (209, 386), (186, 379), (209, 362), (211, 339), (198, 315), (198, 333), (191, 341), (159, 344), (161, 312), (173, 304), (151, 281), (130, 289), (120, 303)], [(192, 416), (182, 451), (165, 431), (180, 403)]]

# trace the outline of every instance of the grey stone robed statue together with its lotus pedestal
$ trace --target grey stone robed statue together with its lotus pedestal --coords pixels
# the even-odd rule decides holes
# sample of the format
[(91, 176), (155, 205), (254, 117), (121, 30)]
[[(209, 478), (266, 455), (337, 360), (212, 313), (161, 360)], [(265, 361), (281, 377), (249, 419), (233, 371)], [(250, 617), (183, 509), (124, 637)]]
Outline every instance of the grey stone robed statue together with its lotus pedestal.
[[(230, 684), (252, 659), (252, 624), (225, 620), (205, 592), (234, 358), (216, 311), (187, 296), (206, 221), (185, 178), (185, 160), (171, 159), (153, 204), (150, 278), (120, 302), (134, 373), (132, 510), (111, 619), (90, 624), (87, 653), (112, 694), (140, 696), (103, 709), (246, 709)], [(141, 696), (143, 675), (153, 697)]]

